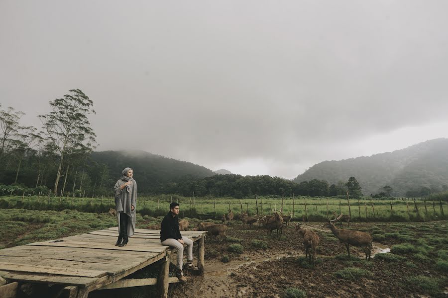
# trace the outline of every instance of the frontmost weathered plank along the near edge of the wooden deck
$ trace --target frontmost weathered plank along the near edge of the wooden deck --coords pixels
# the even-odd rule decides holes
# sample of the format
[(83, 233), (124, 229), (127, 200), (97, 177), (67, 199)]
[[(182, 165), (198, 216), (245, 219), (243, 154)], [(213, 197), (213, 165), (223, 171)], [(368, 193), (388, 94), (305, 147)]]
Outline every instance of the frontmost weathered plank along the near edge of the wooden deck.
[[(52, 283), (60, 285), (89, 286), (98, 281), (97, 278), (62, 276), (52, 274), (0, 271), (0, 275), (8, 280), (18, 282)], [(107, 276), (109, 277), (109, 276)]]

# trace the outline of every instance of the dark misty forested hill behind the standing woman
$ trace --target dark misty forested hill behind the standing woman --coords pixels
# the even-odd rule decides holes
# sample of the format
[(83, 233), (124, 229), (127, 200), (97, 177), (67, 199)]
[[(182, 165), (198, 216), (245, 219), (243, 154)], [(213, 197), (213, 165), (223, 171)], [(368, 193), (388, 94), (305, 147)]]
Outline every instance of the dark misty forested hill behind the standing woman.
[(142, 193), (163, 193), (166, 188), (184, 179), (201, 179), (216, 175), (204, 166), (145, 151), (100, 151), (92, 152), (91, 157), (99, 164), (108, 166), (113, 184), (125, 167), (131, 167), (138, 189)]

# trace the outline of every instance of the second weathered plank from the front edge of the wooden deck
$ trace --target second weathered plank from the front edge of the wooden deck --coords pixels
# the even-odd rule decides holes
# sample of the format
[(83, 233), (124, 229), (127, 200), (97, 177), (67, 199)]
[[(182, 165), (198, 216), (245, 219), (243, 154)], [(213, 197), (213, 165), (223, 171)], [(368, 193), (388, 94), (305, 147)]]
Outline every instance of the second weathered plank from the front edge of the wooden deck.
[(69, 275), (79, 277), (102, 277), (106, 275), (106, 272), (99, 270), (76, 270), (53, 266), (39, 266), (28, 264), (9, 264), (0, 262), (1, 271), (18, 271), (18, 272), (32, 272), (32, 273), (46, 273), (56, 275)]

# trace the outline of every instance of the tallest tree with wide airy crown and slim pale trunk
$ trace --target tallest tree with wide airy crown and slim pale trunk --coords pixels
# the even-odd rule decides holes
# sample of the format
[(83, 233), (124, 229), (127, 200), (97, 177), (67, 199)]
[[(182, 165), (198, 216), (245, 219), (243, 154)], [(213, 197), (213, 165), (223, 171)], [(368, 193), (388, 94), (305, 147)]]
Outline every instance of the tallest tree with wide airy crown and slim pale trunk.
[[(95, 114), (93, 101), (80, 89), (69, 90), (70, 94), (50, 101), (53, 111), (39, 115), (44, 133), (52, 148), (60, 154), (59, 166), (54, 183), (54, 192), (58, 191), (64, 158), (79, 150), (90, 153), (91, 145), (96, 143), (95, 133), (90, 127), (87, 115)], [(87, 144), (85, 144), (87, 143)]]

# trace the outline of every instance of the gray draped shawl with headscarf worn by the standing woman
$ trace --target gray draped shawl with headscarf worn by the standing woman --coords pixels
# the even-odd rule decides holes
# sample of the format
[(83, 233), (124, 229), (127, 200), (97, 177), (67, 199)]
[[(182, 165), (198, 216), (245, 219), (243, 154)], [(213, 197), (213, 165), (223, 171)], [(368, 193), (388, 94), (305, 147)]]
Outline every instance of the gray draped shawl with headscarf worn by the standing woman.
[[(127, 235), (132, 236), (135, 230), (135, 211), (137, 210), (137, 182), (134, 179), (127, 177), (127, 172), (130, 168), (125, 168), (121, 173), (121, 178), (115, 183), (115, 210), (118, 220), (118, 231), (120, 230), (120, 212), (129, 216), (130, 224), (127, 225)], [(120, 186), (127, 181), (132, 181), (132, 184), (126, 186), (122, 190)], [(131, 211), (131, 205), (134, 206), (134, 211)]]

